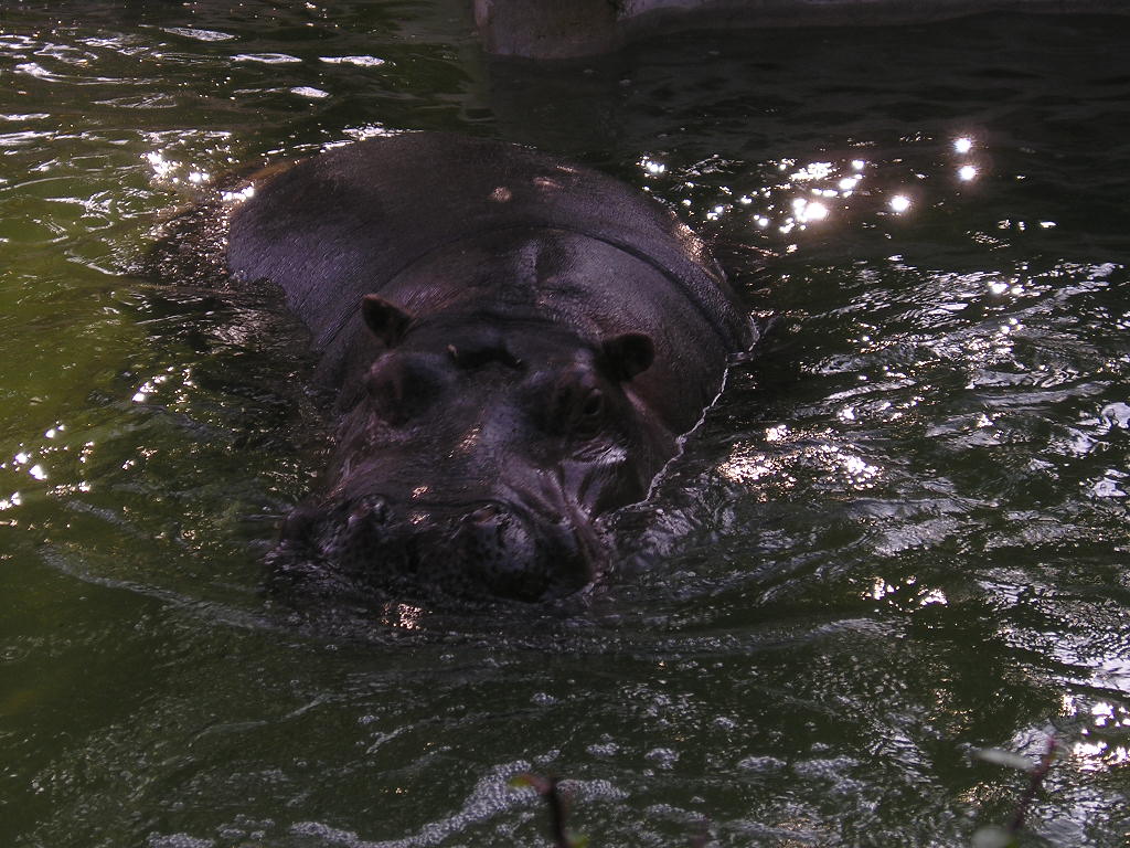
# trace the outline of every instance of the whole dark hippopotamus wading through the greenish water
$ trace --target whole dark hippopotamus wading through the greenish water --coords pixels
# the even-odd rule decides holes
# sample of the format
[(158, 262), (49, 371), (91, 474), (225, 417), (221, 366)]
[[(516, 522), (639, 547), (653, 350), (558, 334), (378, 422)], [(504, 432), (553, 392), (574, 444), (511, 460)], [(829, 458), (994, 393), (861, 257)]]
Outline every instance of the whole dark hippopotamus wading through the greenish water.
[(228, 270), (281, 288), (336, 419), (275, 585), (576, 592), (607, 571), (598, 519), (647, 497), (750, 344), (669, 210), (524, 147), (376, 137), (247, 193)]

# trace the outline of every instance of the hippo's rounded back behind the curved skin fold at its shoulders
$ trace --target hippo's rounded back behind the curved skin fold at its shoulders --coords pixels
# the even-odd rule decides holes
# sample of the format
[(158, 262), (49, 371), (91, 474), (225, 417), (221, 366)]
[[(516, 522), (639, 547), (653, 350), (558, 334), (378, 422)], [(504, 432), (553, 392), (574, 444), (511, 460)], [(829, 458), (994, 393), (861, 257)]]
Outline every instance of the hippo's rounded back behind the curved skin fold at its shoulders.
[(659, 204), (599, 172), (462, 136), (380, 137), (299, 163), (234, 213), (228, 267), (280, 285), (324, 349), (364, 294), (444, 245), (519, 227), (635, 256), (678, 283), (727, 349), (746, 339), (702, 242)]

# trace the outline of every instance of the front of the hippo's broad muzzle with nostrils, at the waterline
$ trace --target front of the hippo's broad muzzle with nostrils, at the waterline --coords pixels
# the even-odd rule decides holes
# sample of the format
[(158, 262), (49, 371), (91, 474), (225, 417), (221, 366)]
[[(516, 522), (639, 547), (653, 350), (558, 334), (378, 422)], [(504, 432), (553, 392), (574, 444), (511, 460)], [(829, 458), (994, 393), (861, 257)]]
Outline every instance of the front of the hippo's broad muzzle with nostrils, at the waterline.
[(592, 525), (514, 503), (399, 504), (382, 495), (290, 513), (268, 555), (270, 588), (388, 599), (551, 602), (601, 571)]

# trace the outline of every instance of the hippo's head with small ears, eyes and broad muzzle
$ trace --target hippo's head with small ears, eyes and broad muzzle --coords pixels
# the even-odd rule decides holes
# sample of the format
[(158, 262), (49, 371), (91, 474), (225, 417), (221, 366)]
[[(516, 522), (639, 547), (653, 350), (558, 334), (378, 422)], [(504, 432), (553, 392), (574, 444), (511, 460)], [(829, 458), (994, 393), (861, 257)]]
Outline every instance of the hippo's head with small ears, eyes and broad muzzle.
[(379, 353), (323, 493), (284, 525), (275, 578), (528, 602), (588, 585), (606, 557), (593, 519), (645, 497), (673, 452), (633, 384), (651, 338), (545, 317), (415, 320), (376, 295), (362, 314)]

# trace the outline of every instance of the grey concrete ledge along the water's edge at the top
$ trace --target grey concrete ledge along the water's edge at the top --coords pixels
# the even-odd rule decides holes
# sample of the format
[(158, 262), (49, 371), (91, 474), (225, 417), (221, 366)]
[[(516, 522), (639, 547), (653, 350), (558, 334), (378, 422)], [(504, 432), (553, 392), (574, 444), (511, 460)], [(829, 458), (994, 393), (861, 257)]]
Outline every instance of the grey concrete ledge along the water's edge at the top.
[(678, 29), (881, 26), (991, 11), (1130, 15), (1130, 0), (475, 0), (488, 53), (567, 59)]

